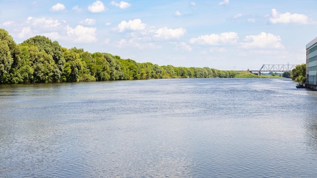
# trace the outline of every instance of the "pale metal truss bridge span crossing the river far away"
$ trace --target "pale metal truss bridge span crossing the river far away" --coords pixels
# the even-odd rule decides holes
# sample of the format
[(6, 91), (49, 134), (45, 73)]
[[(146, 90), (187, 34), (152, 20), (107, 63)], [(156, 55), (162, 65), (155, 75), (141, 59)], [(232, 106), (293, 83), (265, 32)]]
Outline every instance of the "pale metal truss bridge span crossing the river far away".
[(258, 75), (261, 75), (261, 72), (290, 72), (295, 66), (293, 64), (263, 64), (259, 70), (248, 70), (251, 73), (257, 72)]

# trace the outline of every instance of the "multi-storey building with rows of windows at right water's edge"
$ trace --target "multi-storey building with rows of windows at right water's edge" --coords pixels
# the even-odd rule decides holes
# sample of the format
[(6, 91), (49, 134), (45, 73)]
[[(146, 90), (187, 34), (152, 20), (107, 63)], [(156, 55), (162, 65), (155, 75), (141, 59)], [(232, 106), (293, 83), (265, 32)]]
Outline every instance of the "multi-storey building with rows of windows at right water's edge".
[(306, 87), (316, 90), (317, 37), (306, 45)]

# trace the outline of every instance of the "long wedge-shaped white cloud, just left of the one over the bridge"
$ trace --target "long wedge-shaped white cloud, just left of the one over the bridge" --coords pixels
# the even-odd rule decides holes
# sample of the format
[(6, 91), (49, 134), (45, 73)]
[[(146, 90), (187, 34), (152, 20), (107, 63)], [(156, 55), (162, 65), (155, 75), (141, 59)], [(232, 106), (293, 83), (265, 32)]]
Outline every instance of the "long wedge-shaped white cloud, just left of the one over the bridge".
[(189, 40), (190, 43), (195, 44), (210, 44), (210, 45), (218, 45), (218, 44), (227, 44), (227, 43), (236, 43), (237, 33), (235, 32), (225, 32), (221, 34), (210, 34), (210, 35), (202, 35), (197, 38), (191, 38)]

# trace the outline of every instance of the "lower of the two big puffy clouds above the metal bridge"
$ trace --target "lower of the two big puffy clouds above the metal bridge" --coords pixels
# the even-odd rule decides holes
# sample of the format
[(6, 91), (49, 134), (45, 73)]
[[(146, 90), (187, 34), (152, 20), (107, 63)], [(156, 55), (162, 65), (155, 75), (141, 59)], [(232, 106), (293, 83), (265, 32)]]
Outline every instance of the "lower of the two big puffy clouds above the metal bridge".
[(261, 32), (258, 35), (248, 35), (242, 42), (243, 48), (273, 48), (273, 49), (284, 49), (281, 43), (281, 37), (273, 35), (271, 33)]

